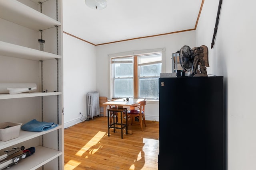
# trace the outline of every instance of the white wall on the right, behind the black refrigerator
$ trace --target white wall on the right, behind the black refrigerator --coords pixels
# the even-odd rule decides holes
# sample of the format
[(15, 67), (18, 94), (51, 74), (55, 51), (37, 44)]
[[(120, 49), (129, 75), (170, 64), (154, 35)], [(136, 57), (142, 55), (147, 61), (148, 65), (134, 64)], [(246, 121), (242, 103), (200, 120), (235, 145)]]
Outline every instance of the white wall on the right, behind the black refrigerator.
[(196, 30), (196, 45), (209, 48), (208, 74), (224, 76), (228, 170), (256, 169), (255, 5), (254, 1), (222, 2), (213, 49), (218, 1), (204, 1)]

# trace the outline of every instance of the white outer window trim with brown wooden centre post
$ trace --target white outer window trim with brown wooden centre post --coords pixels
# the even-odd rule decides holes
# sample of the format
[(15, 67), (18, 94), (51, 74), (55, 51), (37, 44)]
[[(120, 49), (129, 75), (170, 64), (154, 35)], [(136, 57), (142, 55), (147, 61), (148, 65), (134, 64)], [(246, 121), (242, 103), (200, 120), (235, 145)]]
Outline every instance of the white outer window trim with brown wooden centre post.
[[(128, 52), (122, 52), (122, 53), (115, 53), (115, 54), (110, 54), (108, 55), (108, 84), (109, 84), (109, 88), (108, 88), (108, 94), (110, 96), (110, 98), (113, 98), (112, 96), (112, 91), (113, 91), (113, 86), (112, 86), (112, 58), (120, 58), (120, 57), (129, 57), (129, 56), (140, 56), (140, 55), (150, 55), (150, 54), (154, 54), (154, 53), (162, 53), (162, 70), (161, 73), (164, 73), (165, 70), (165, 48), (159, 48), (159, 49), (148, 49), (148, 50), (137, 50), (137, 51), (128, 51)], [(134, 60), (137, 61), (137, 60)], [(136, 78), (138, 78), (138, 65), (137, 67), (134, 67), (134, 72)], [(134, 79), (134, 77), (133, 77)], [(136, 81), (137, 84), (134, 83), (133, 85), (133, 90), (136, 90), (137, 92), (133, 92), (133, 98), (139, 98), (139, 94), (138, 94), (138, 86), (139, 86), (139, 78)], [(133, 80), (133, 82), (135, 82)], [(135, 95), (134, 95), (135, 94)]]

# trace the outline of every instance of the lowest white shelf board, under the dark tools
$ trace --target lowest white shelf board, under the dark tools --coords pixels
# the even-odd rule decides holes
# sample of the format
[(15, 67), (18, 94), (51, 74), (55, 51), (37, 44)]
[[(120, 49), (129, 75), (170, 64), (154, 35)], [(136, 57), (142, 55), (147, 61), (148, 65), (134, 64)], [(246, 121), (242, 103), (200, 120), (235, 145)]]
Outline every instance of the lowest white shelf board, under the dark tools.
[[(50, 162), (54, 158), (62, 155), (62, 151), (38, 146), (35, 147), (36, 151), (34, 154), (21, 159), (18, 164), (15, 164), (8, 168), (8, 170), (35, 170), (40, 168), (44, 164)], [(27, 149), (27, 148), (25, 148)]]

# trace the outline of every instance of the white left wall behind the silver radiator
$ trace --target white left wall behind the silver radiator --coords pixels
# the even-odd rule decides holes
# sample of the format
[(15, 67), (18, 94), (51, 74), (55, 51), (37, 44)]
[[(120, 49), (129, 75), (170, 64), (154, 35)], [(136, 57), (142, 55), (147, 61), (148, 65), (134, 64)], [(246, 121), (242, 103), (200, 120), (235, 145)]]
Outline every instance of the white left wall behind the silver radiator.
[(63, 34), (64, 127), (87, 115), (86, 94), (96, 91), (95, 46)]

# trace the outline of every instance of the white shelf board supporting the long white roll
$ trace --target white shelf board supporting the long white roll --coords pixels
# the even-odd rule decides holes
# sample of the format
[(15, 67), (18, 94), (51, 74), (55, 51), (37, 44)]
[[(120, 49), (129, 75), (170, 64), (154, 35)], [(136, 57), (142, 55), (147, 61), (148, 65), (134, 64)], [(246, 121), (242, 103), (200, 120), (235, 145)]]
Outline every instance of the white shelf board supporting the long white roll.
[(0, 99), (15, 99), (15, 98), (31, 98), (38, 96), (54, 96), (61, 95), (62, 92), (30, 92), (30, 93), (18, 93), (18, 94), (0, 94)]

